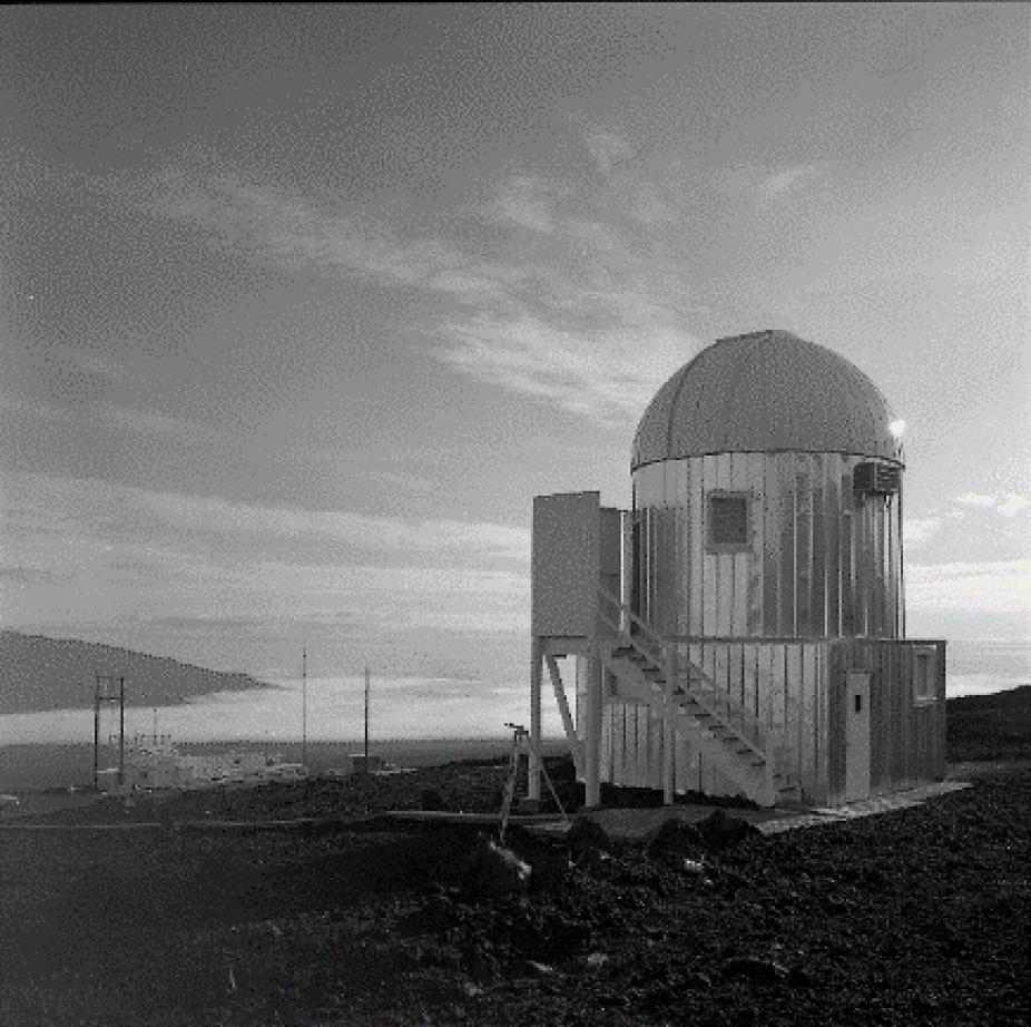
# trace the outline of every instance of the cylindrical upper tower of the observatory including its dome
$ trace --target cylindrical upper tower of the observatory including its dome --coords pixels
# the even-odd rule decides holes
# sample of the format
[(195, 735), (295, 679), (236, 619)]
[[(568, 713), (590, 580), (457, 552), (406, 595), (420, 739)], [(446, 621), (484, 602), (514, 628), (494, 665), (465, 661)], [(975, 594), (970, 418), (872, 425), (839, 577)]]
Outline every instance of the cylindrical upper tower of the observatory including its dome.
[(661, 635), (904, 635), (902, 471), (876, 385), (783, 331), (721, 339), (637, 429), (631, 605)]

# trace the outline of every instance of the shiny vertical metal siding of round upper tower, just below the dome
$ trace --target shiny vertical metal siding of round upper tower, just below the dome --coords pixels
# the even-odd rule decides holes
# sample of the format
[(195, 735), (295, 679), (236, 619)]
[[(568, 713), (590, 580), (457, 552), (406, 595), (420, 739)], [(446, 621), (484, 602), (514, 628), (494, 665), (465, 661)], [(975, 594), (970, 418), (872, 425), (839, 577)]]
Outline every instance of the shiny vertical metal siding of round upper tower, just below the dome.
[[(662, 634), (897, 637), (901, 536), (894, 498), (856, 498), (858, 458), (724, 453), (637, 471), (640, 594)], [(706, 497), (749, 495), (749, 547), (711, 552)]]

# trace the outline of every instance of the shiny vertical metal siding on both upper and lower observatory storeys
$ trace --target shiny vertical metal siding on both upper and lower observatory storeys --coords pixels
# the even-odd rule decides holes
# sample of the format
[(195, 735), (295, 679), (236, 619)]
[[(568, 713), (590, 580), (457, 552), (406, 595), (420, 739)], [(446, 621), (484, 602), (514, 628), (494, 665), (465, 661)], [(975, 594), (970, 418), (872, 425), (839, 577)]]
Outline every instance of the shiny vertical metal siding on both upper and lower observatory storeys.
[[(801, 775), (807, 796), (827, 802), (844, 795), (842, 689), (851, 667), (872, 671), (872, 786), (927, 780), (944, 759), (939, 704), (913, 706), (912, 651), (847, 640), (902, 632), (901, 503), (856, 497), (858, 462), (836, 453), (734, 453), (650, 464), (634, 476), (642, 616), (667, 635), (756, 639), (695, 645), (691, 658), (784, 730), (785, 769)], [(705, 505), (714, 489), (749, 495), (747, 549), (708, 551)], [(799, 643), (784, 640), (792, 636)], [(829, 648), (801, 644), (835, 636), (846, 639)], [(661, 717), (641, 708), (613, 728), (611, 745), (626, 753), (620, 776), (658, 783)], [(686, 743), (677, 765), (678, 786), (733, 790)]]

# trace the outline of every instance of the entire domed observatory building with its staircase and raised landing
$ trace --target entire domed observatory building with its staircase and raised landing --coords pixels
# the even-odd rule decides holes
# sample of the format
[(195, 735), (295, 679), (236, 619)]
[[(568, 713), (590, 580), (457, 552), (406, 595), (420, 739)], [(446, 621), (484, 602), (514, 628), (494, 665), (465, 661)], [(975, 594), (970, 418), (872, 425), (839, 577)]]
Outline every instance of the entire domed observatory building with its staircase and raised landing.
[(905, 637), (900, 427), (823, 346), (721, 339), (645, 411), (631, 510), (534, 498), (531, 735), (547, 673), (588, 805), (601, 782), (836, 805), (944, 775), (945, 644)]

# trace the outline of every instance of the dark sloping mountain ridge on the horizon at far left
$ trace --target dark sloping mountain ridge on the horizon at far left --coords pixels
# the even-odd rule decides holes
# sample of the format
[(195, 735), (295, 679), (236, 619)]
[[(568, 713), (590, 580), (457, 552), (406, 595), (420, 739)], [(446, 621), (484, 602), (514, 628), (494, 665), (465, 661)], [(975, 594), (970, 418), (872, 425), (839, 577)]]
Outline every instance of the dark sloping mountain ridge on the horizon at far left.
[(95, 642), (0, 632), (0, 714), (90, 707), (97, 674), (125, 677), (126, 706), (167, 706), (192, 695), (269, 687), (247, 674)]

